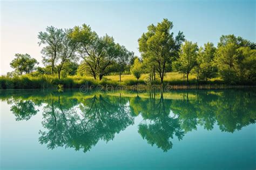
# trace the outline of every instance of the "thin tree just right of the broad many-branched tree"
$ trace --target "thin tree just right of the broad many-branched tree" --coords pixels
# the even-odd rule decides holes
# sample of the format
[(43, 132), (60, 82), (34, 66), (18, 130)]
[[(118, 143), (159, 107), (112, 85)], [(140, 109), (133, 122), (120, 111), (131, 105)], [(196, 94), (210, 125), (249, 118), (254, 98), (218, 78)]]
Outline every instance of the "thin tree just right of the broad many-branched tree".
[(130, 68), (130, 60), (133, 58), (134, 53), (128, 51), (125, 46), (116, 44), (117, 58), (116, 58), (116, 71), (119, 72), (119, 81), (121, 82), (122, 73)]

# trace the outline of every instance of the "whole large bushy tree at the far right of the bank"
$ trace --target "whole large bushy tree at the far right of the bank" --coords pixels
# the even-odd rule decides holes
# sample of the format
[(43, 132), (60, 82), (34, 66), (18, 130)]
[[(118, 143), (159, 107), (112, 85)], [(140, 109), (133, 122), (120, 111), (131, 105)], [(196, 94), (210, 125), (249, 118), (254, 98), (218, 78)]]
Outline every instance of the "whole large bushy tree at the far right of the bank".
[(220, 76), (230, 82), (255, 80), (256, 44), (242, 37), (226, 35), (220, 37), (215, 63)]

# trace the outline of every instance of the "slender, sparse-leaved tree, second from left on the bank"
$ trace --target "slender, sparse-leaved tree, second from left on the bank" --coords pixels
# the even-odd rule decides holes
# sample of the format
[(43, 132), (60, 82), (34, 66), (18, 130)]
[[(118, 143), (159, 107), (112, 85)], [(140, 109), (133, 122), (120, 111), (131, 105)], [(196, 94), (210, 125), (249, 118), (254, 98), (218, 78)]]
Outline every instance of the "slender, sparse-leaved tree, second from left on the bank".
[(46, 32), (39, 32), (39, 46), (44, 44), (42, 49), (43, 63), (45, 65), (51, 66), (52, 76), (54, 76), (54, 69), (57, 63), (58, 55), (62, 49), (62, 40), (65, 33), (62, 29), (54, 28), (53, 26), (48, 26)]

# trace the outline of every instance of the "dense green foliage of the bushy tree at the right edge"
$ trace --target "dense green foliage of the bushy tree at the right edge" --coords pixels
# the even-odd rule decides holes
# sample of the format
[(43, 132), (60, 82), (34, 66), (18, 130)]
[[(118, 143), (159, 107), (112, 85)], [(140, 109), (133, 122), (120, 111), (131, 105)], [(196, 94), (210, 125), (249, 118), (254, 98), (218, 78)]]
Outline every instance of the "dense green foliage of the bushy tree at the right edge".
[(234, 43), (218, 47), (215, 62), (220, 76), (229, 83), (255, 81), (255, 51)]

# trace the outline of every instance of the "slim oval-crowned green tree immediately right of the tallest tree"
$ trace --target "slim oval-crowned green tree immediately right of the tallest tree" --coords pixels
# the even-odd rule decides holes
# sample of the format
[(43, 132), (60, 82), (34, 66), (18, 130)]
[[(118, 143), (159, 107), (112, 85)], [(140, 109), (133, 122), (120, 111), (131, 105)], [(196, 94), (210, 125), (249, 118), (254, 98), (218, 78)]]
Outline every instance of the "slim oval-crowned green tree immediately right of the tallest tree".
[(185, 41), (185, 44), (181, 45), (179, 51), (179, 58), (174, 64), (176, 69), (180, 73), (184, 73), (187, 76), (188, 83), (188, 75), (191, 70), (197, 65), (197, 55), (198, 55), (198, 46), (197, 43), (192, 43), (190, 41)]

